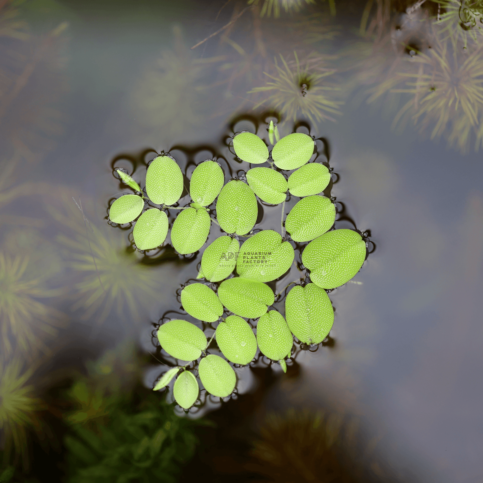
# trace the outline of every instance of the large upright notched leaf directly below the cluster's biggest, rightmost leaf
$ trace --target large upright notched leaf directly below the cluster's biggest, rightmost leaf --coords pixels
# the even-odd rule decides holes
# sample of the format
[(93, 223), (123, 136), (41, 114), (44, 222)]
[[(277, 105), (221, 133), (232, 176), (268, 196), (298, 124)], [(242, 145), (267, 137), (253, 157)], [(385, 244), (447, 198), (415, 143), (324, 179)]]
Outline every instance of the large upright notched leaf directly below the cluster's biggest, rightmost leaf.
[(285, 299), (285, 317), (292, 333), (305, 344), (320, 344), (334, 323), (326, 291), (315, 284), (292, 288)]

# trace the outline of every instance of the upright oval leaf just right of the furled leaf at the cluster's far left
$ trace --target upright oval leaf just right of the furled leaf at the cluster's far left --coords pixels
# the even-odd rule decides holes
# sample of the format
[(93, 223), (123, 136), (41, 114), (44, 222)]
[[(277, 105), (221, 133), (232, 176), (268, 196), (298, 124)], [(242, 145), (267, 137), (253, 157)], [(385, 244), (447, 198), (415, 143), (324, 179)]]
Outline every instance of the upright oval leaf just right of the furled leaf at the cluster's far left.
[(183, 193), (183, 173), (169, 156), (157, 156), (146, 173), (146, 193), (153, 203), (173, 205)]

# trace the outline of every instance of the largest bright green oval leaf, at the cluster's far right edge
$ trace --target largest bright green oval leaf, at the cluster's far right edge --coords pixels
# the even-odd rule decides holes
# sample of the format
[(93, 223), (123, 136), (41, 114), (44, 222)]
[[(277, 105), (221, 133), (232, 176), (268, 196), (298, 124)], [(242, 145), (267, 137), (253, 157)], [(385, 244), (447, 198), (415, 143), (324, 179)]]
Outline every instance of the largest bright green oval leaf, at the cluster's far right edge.
[(335, 288), (348, 282), (366, 258), (366, 242), (354, 230), (339, 229), (311, 241), (302, 253), (302, 263), (310, 279), (322, 288)]

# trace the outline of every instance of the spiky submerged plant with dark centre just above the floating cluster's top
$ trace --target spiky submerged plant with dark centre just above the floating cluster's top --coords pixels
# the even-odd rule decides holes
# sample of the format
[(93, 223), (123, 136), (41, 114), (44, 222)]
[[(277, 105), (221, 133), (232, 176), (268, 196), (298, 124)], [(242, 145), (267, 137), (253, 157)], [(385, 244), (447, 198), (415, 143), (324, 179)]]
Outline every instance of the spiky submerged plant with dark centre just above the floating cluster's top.
[(258, 102), (254, 109), (268, 102), (273, 109), (284, 114), (287, 120), (295, 121), (297, 117), (305, 116), (312, 122), (326, 119), (335, 121), (330, 114), (341, 114), (342, 102), (331, 99), (330, 93), (339, 91), (340, 87), (326, 82), (327, 77), (335, 73), (335, 69), (320, 69), (322, 72), (311, 73), (308, 61), (305, 67), (301, 67), (296, 52), (294, 56), (295, 68), (289, 67), (282, 55), (282, 66), (275, 58), (276, 75), (264, 72), (272, 82), (249, 91), (270, 92), (270, 96)]

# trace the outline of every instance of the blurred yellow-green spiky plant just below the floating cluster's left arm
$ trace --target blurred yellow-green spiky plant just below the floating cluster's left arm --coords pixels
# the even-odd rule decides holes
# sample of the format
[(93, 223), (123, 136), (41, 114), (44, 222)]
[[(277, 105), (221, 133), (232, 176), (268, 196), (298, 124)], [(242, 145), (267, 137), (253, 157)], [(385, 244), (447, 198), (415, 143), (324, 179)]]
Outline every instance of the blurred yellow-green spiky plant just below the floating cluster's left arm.
[(116, 316), (128, 322), (126, 327), (135, 327), (141, 309), (150, 307), (158, 297), (160, 274), (142, 264), (137, 252), (126, 248), (117, 229), (85, 221), (78, 204), (71, 191), (59, 189), (57, 205), (46, 205), (63, 230), (56, 241), (64, 247), (66, 266), (78, 280), (71, 296), (75, 299), (72, 311), (80, 310), (82, 320), (95, 320), (100, 325), (115, 309)]

